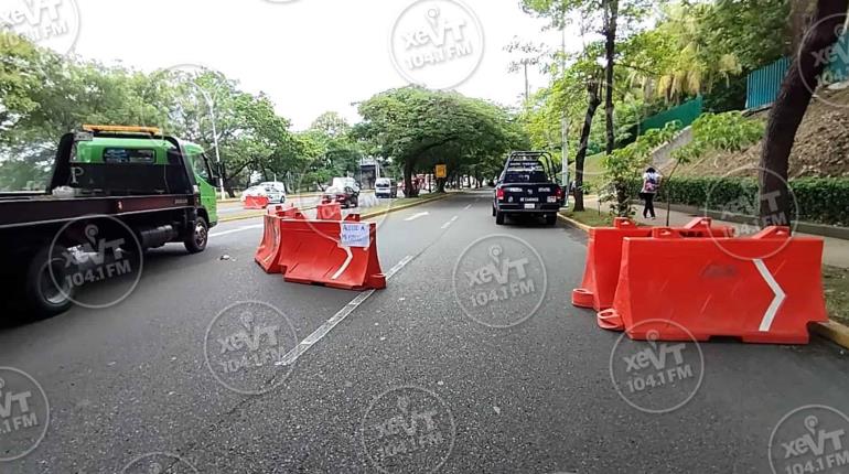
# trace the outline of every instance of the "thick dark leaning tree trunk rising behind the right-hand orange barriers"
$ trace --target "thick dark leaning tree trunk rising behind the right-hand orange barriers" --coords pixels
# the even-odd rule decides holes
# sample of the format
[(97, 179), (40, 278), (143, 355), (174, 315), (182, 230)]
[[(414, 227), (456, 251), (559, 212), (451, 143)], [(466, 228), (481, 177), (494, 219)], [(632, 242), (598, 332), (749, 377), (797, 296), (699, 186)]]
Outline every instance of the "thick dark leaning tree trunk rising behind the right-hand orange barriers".
[(787, 188), (789, 155), (796, 130), (810, 104), (819, 74), (825, 69), (830, 46), (846, 21), (849, 0), (817, 0), (814, 23), (784, 77), (770, 111), (759, 170), (761, 224), (791, 225), (792, 200)]

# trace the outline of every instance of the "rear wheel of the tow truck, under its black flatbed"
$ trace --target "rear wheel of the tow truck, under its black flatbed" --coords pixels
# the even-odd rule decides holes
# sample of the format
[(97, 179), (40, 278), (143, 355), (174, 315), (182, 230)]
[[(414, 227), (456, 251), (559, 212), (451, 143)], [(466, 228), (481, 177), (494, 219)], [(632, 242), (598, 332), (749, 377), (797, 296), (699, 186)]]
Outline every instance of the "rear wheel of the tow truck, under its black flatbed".
[(24, 295), (36, 317), (55, 316), (74, 304), (76, 287), (65, 278), (68, 274), (63, 259), (65, 252), (67, 249), (60, 245), (53, 248), (52, 255), (49, 246), (42, 247), (26, 266)]

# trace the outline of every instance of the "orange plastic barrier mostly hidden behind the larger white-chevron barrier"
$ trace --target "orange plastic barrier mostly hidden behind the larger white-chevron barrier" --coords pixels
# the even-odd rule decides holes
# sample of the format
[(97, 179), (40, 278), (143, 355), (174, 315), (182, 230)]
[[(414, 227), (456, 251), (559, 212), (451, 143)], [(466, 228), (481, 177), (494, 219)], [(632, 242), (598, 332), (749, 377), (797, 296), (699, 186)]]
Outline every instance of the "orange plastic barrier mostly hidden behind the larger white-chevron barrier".
[[(653, 227), (637, 227), (627, 218), (616, 217), (613, 227), (590, 229), (587, 245), (587, 265), (581, 288), (572, 290), (572, 304), (579, 308), (604, 310), (613, 304), (619, 281), (622, 241), (626, 237), (649, 237)], [(684, 227), (677, 228), (686, 237), (733, 236), (728, 226), (712, 226), (710, 217), (697, 217)]]

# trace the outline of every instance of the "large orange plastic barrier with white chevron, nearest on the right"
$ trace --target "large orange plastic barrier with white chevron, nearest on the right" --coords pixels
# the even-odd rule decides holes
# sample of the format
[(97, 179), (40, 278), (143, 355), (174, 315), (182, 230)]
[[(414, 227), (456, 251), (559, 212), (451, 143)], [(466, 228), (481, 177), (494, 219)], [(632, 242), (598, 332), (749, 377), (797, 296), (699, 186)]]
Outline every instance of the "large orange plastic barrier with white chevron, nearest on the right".
[[(657, 228), (624, 239), (613, 308), (599, 325), (631, 338), (806, 344), (807, 325), (828, 320), (823, 295), (823, 240), (770, 227), (751, 238), (681, 238)], [(781, 251), (774, 251), (781, 248)], [(742, 258), (741, 258), (742, 256)], [(638, 330), (637, 330), (638, 328)]]

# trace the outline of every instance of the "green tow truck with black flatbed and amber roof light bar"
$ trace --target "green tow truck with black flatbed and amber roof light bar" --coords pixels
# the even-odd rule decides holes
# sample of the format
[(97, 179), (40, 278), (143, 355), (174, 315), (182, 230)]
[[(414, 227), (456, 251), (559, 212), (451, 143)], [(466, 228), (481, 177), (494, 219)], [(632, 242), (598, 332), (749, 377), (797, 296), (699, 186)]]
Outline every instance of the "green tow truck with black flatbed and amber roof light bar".
[[(140, 272), (144, 251), (168, 243), (204, 251), (218, 222), (216, 180), (201, 147), (155, 128), (66, 133), (44, 192), (0, 192), (4, 301), (28, 317), (55, 315), (77, 301), (80, 273)], [(92, 268), (104, 261), (108, 272)]]

